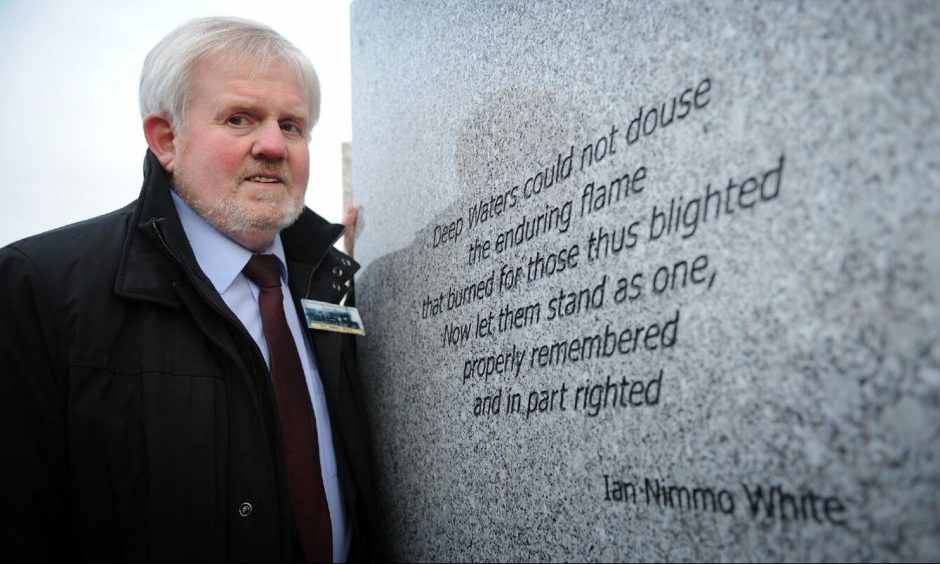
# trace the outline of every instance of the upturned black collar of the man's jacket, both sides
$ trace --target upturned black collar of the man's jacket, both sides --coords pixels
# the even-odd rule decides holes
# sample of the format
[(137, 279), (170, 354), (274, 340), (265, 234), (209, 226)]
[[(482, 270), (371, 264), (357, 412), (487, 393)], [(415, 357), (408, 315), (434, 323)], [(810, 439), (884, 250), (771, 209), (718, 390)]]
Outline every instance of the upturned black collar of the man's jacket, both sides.
[[(143, 187), (114, 284), (118, 295), (179, 306), (176, 285), (189, 282), (211, 289), (173, 205), (172, 186), (170, 175), (148, 150)], [(345, 295), (359, 265), (332, 247), (342, 233), (342, 225), (329, 223), (306, 208), (281, 232), (295, 296), (338, 301)]]

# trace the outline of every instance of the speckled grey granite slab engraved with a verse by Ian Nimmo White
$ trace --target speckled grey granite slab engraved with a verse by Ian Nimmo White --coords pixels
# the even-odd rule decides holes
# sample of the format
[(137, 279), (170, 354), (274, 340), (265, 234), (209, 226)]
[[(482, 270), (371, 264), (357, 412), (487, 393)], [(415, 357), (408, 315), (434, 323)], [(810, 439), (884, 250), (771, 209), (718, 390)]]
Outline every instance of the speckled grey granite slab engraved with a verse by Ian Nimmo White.
[(352, 46), (393, 556), (940, 559), (940, 3), (357, 0)]

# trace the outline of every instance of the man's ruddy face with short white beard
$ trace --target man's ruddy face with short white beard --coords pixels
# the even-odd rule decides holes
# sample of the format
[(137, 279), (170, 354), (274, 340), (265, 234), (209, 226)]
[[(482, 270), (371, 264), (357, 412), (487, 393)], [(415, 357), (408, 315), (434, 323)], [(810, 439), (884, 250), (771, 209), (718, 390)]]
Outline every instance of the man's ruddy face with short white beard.
[(307, 97), (280, 61), (257, 70), (214, 57), (194, 71), (167, 169), (183, 200), (222, 233), (265, 246), (303, 211)]

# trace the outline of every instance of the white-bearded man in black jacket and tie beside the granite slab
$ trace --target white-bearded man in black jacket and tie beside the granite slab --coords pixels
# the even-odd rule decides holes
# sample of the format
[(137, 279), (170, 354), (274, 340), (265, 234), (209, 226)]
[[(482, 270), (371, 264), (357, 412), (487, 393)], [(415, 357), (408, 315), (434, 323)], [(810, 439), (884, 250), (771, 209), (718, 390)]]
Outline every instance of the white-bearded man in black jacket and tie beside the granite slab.
[(195, 20), (140, 99), (138, 200), (0, 250), (4, 554), (372, 559), (354, 338), (301, 321), (358, 268), (303, 205), (313, 67)]

